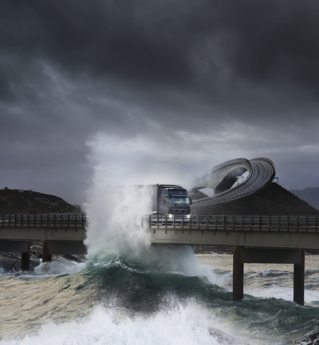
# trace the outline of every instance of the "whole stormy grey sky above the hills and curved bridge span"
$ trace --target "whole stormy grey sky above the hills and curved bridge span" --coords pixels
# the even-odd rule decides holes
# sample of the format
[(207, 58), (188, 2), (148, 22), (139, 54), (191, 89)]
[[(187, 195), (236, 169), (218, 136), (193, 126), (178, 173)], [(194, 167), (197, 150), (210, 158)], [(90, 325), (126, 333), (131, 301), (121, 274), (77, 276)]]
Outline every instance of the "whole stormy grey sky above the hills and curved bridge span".
[(267, 157), (319, 186), (317, 0), (0, 0), (0, 188), (183, 183)]

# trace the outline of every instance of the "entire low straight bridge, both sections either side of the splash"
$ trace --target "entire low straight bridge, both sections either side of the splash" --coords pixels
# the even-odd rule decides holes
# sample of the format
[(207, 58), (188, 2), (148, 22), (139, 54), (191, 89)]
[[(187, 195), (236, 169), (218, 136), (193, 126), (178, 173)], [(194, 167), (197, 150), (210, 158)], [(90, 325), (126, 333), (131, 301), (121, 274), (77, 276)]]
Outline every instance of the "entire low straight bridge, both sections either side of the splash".
[[(53, 254), (85, 254), (85, 214), (0, 215), (0, 252), (21, 252), (28, 270), (30, 244)], [(243, 298), (244, 263), (294, 264), (294, 301), (304, 304), (305, 249), (319, 249), (319, 216), (149, 215), (142, 227), (153, 245), (233, 246), (233, 299)]]

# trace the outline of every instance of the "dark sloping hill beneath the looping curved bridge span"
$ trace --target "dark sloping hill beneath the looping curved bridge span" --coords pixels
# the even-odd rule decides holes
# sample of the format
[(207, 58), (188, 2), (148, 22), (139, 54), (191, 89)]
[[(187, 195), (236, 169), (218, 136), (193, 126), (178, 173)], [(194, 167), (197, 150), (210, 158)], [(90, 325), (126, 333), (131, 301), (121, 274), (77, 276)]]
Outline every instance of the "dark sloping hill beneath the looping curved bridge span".
[[(198, 190), (190, 191), (194, 200), (203, 197)], [(271, 183), (245, 198), (211, 206), (192, 206), (192, 214), (222, 215), (319, 215), (319, 210), (299, 199), (277, 183)]]

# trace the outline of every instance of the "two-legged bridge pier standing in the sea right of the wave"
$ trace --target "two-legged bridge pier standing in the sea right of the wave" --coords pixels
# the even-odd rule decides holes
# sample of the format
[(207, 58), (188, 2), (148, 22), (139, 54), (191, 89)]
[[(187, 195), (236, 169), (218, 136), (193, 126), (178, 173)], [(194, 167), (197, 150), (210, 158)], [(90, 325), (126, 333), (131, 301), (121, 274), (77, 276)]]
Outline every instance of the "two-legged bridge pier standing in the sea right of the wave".
[(240, 301), (244, 297), (244, 263), (294, 264), (293, 301), (304, 305), (304, 250), (233, 247), (233, 301)]

